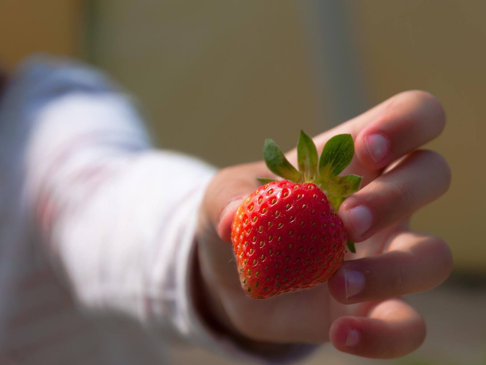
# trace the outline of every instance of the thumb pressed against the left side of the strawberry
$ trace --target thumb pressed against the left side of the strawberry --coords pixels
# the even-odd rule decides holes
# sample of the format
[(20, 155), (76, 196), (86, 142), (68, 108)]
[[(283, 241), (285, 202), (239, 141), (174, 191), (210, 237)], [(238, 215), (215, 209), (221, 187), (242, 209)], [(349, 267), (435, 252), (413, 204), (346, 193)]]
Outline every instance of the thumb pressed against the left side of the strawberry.
[(263, 163), (254, 163), (225, 168), (219, 171), (206, 189), (203, 201), (205, 217), (217, 235), (226, 242), (231, 241), (231, 222), (236, 209), (260, 184), (256, 176), (268, 176)]

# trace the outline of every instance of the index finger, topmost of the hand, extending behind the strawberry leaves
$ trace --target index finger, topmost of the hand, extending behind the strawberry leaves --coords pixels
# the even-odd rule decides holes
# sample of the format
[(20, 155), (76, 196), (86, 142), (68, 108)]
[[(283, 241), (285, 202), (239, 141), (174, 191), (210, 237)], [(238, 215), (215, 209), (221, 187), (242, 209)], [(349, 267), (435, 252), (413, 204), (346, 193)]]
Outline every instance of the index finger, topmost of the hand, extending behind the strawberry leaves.
[[(313, 140), (321, 151), (332, 136), (350, 133), (355, 158), (344, 173), (364, 176), (364, 186), (378, 176), (382, 167), (434, 139), (444, 125), (440, 102), (428, 92), (413, 90), (401, 92)], [(288, 158), (296, 161), (295, 149)]]

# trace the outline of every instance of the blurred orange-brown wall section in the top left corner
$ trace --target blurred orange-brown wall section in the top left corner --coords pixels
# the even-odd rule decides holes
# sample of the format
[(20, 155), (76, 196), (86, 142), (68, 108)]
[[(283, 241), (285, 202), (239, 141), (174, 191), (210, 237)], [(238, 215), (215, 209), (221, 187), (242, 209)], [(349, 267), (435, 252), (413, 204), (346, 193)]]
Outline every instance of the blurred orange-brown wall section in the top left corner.
[(33, 52), (80, 55), (80, 0), (1, 0), (0, 67)]

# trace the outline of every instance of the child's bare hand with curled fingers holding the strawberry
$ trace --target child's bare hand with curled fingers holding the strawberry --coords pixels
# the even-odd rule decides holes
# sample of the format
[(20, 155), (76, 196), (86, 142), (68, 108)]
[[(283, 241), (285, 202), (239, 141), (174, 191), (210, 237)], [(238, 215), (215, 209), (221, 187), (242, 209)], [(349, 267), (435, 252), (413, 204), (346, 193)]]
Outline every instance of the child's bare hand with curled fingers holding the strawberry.
[[(350, 133), (355, 157), (343, 174), (363, 176), (362, 188), (339, 215), (355, 242), (327, 284), (311, 290), (252, 299), (240, 287), (230, 242), (237, 205), (270, 176), (263, 162), (221, 170), (202, 206), (198, 256), (211, 315), (226, 331), (255, 342), (330, 341), (339, 350), (371, 358), (403, 356), (421, 345), (425, 323), (400, 298), (441, 284), (451, 252), (441, 239), (409, 229), (409, 218), (449, 187), (451, 172), (435, 152), (418, 149), (444, 128), (434, 96), (400, 93), (314, 138), (317, 150), (330, 137)], [(296, 151), (287, 158), (293, 164)]]

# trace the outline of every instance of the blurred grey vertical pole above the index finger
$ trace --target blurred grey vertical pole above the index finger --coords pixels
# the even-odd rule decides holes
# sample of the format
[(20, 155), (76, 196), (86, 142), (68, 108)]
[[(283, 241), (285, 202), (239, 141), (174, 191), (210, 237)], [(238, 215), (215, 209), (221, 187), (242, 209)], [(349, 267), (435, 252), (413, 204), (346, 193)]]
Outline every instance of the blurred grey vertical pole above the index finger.
[(325, 128), (330, 128), (368, 107), (353, 39), (355, 24), (346, 1), (310, 0), (295, 4), (302, 15), (303, 34), (307, 35), (316, 93), (322, 100), (320, 114)]

